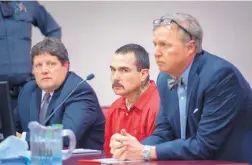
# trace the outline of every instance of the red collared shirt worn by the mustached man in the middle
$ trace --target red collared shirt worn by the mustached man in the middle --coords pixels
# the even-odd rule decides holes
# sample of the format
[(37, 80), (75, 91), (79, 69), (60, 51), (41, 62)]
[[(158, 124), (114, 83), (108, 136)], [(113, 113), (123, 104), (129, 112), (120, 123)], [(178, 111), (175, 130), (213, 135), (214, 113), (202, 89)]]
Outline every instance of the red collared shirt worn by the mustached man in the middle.
[(148, 89), (141, 94), (130, 110), (126, 107), (125, 99), (125, 97), (118, 98), (108, 109), (104, 142), (107, 156), (111, 156), (109, 147), (111, 136), (120, 133), (121, 129), (125, 129), (139, 141), (151, 135), (155, 129), (155, 120), (160, 105), (155, 82), (150, 80)]

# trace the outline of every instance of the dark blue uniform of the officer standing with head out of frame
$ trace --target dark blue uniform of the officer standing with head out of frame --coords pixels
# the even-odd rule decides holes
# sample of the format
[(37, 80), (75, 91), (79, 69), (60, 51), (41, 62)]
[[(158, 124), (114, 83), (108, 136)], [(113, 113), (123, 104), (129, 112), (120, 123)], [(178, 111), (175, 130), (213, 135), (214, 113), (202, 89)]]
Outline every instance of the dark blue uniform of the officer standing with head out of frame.
[(12, 98), (32, 77), (32, 25), (47, 37), (61, 38), (61, 28), (36, 1), (0, 1), (0, 81), (9, 81)]

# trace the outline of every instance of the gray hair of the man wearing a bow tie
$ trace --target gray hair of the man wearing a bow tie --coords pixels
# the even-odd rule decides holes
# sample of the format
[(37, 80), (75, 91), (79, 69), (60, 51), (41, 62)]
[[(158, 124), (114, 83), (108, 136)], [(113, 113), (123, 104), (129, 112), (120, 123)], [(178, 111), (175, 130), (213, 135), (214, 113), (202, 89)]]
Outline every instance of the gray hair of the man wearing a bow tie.
[(196, 52), (200, 53), (202, 51), (203, 30), (196, 18), (185, 13), (167, 14), (161, 18), (174, 20), (180, 26), (185, 28), (191, 34), (192, 38), (190, 38), (183, 29), (179, 28), (179, 31), (182, 34), (182, 41), (188, 42), (193, 39), (196, 41)]

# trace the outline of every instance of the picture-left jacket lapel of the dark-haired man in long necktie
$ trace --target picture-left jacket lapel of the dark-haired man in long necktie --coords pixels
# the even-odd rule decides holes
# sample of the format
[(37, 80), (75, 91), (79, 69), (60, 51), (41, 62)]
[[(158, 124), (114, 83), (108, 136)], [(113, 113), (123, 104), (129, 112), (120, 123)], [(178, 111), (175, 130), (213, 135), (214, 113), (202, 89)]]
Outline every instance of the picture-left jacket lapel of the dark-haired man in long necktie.
[(30, 121), (38, 121), (39, 119), (39, 111), (41, 105), (41, 89), (37, 87), (36, 90), (33, 91), (31, 102), (30, 102)]

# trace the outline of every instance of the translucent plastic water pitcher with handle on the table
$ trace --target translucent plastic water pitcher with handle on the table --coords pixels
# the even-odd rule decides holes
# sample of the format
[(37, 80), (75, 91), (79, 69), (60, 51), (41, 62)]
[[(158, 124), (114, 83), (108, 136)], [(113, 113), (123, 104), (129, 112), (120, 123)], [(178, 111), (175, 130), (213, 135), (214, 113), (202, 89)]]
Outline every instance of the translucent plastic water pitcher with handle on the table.
[[(76, 138), (71, 130), (63, 129), (61, 124), (43, 126), (36, 121), (30, 122), (28, 127), (32, 165), (62, 165), (62, 160), (72, 156)], [(62, 152), (63, 136), (69, 138), (67, 152)]]

